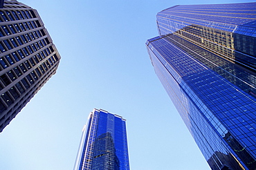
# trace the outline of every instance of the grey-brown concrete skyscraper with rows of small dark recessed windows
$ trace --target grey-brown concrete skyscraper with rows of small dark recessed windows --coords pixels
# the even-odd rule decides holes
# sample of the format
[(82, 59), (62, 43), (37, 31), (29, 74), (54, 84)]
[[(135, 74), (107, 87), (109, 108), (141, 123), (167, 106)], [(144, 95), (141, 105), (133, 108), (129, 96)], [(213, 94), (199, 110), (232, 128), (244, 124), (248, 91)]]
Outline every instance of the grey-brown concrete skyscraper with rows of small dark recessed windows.
[(4, 1), (0, 8), (0, 132), (55, 74), (59, 62), (37, 10)]

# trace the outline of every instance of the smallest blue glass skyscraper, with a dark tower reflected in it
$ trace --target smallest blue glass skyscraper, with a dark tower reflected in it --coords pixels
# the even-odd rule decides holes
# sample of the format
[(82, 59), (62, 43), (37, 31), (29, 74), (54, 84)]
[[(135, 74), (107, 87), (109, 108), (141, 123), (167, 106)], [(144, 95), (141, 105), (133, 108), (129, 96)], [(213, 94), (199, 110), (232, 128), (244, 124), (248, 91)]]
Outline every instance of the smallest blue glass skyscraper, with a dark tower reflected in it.
[(74, 170), (129, 170), (125, 120), (94, 109), (84, 126)]

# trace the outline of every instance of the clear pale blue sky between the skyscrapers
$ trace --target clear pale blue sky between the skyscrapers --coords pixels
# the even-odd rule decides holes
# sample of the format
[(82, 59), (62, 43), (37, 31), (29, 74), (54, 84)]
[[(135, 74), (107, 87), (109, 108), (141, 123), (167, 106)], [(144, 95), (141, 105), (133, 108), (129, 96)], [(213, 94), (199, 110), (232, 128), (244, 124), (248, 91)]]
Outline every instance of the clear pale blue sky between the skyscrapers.
[(156, 13), (178, 4), (249, 1), (24, 0), (62, 56), (57, 74), (0, 133), (0, 169), (73, 169), (89, 112), (127, 119), (132, 170), (207, 170), (154, 73), (145, 41)]

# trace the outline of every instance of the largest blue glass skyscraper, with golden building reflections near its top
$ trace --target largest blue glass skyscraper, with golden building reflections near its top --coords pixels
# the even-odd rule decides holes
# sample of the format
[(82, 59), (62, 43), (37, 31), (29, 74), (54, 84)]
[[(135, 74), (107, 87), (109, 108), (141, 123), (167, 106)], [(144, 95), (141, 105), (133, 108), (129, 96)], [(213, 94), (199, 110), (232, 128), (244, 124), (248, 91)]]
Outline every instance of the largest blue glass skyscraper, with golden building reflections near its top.
[(212, 169), (256, 169), (256, 3), (173, 6), (147, 50)]

